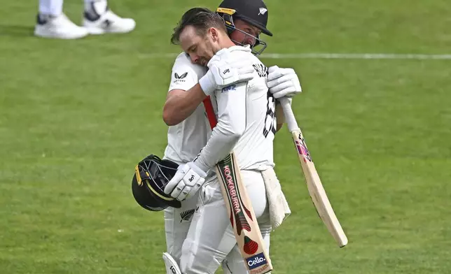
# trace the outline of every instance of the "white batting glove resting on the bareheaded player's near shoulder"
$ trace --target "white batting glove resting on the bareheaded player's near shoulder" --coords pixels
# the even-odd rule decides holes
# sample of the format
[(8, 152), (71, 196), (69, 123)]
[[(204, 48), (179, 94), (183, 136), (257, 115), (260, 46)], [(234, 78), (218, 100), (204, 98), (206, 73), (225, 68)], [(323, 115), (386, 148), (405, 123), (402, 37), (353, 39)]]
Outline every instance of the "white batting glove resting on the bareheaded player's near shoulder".
[(242, 55), (232, 55), (227, 48), (216, 52), (207, 66), (209, 71), (199, 80), (200, 87), (207, 96), (216, 89), (254, 78), (255, 70), (251, 60), (243, 60)]

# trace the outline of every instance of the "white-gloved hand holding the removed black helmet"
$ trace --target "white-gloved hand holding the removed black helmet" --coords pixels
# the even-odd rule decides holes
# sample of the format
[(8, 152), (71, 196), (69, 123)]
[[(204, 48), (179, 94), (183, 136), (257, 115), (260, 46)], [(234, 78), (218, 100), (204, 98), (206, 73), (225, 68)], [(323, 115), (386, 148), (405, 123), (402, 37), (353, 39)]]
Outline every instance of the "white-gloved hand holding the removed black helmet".
[(189, 199), (202, 187), (207, 173), (204, 173), (196, 164), (190, 161), (177, 168), (174, 177), (167, 183), (165, 194), (179, 201)]

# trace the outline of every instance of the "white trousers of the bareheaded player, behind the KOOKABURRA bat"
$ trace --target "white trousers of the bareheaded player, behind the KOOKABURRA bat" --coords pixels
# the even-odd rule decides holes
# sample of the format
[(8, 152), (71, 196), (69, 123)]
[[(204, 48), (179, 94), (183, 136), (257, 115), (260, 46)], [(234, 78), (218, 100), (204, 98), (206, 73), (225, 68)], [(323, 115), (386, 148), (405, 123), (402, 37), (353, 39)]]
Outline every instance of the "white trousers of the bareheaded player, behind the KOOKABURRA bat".
[[(271, 225), (263, 177), (259, 171), (241, 171), (241, 173), (258, 224), (269, 243)], [(214, 274), (218, 266), (230, 254), (233, 257), (228, 258), (228, 264), (225, 266), (240, 268), (239, 264), (235, 265), (233, 262), (240, 258), (242, 268), (239, 270), (230, 268), (230, 271), (235, 271), (232, 272), (233, 274), (247, 273), (241, 256), (230, 253), (236, 245), (236, 240), (216, 177), (202, 187), (199, 201), (199, 209), (193, 216), (188, 236), (183, 243), (181, 272), (183, 274)]]

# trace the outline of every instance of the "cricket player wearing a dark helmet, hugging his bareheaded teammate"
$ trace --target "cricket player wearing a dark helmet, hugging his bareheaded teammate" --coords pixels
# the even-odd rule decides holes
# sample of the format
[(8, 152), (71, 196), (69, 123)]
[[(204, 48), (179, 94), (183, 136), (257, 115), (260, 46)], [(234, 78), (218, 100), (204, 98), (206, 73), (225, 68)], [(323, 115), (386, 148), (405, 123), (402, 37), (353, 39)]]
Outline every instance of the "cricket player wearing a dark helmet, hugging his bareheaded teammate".
[[(261, 0), (225, 0), (218, 7), (218, 14), (225, 20), (230, 38), (237, 45), (252, 45), (254, 53), (260, 54), (266, 47), (266, 43), (259, 36), (264, 34), (272, 36), (266, 25), (268, 23), (268, 8)], [(256, 50), (260, 46), (259, 50)], [(207, 68), (204, 59), (191, 62), (186, 53), (181, 53), (176, 58), (172, 69), (172, 79), (167, 95), (167, 101), (163, 110), (163, 120), (169, 125), (168, 145), (165, 150), (165, 159), (186, 164), (193, 159), (206, 145), (210, 134), (210, 127), (204, 113), (204, 107), (200, 102), (205, 94), (200, 87), (200, 78), (204, 77)], [(230, 59), (223, 66), (227, 66), (236, 72), (243, 72), (248, 66), (242, 60)], [(223, 69), (225, 70), (225, 68)], [(233, 71), (230, 74), (235, 74)], [(242, 78), (242, 81), (249, 80)], [(205, 84), (204, 84), (205, 86)], [(277, 66), (270, 68), (268, 86), (274, 97), (292, 96), (302, 89), (298, 76), (293, 69), (279, 69)], [(277, 127), (279, 124), (277, 120)], [(179, 264), (181, 246), (185, 240), (190, 226), (191, 218), (197, 208), (197, 196), (181, 202), (181, 208), (167, 208), (165, 210), (165, 231), (167, 253), (164, 255), (167, 273), (172, 273), (172, 262)], [(244, 269), (244, 262), (238, 249), (228, 254), (222, 262), (225, 273)], [(232, 273), (238, 273), (233, 271)]]

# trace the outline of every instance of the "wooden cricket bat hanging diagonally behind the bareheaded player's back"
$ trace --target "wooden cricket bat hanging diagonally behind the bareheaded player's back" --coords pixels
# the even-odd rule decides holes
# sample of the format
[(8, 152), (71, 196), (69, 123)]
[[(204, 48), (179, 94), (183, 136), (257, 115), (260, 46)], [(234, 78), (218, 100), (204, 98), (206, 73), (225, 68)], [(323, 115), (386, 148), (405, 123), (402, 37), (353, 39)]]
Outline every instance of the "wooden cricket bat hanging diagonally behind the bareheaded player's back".
[(286, 124), (293, 137), (296, 152), (298, 152), (300, 166), (302, 167), (305, 181), (307, 182), (307, 189), (312, 198), (314, 207), (316, 208), (319, 217), (323, 220), (324, 224), (326, 224), (327, 230), (338, 243), (338, 246), (344, 247), (347, 245), (347, 237), (340, 222), (338, 222), (337, 216), (335, 216), (335, 212), (333, 212), (331, 202), (321, 183), (317, 168), (314, 167), (312, 157), (307, 150), (303, 133), (298, 127), (298, 122), (296, 122), (290, 103), (288, 99), (281, 99), (280, 104), (284, 110)]

